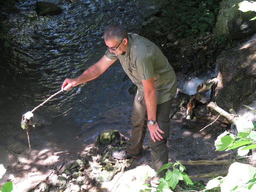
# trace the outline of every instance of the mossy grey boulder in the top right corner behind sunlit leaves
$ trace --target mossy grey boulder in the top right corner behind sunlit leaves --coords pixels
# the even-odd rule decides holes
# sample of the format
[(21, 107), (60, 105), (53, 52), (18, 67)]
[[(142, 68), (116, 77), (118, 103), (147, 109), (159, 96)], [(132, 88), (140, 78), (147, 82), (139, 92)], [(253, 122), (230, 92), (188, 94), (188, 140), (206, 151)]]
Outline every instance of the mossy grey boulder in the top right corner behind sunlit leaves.
[(220, 2), (220, 11), (214, 28), (215, 36), (224, 36), (227, 39), (239, 39), (256, 33), (256, 19), (254, 11), (242, 12), (238, 3), (241, 0), (223, 0)]

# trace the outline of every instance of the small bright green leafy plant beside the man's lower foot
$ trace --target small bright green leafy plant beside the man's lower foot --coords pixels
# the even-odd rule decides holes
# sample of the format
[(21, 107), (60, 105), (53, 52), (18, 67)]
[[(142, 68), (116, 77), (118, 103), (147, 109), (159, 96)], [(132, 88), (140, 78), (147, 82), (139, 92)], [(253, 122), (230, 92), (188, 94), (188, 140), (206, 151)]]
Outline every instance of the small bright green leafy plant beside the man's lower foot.
[[(177, 168), (178, 166), (179, 169)], [(169, 170), (170, 167), (173, 168), (173, 171)], [(168, 171), (166, 171), (164, 178), (159, 179), (160, 183), (156, 188), (157, 191), (163, 191), (164, 189), (170, 188), (175, 189), (176, 185), (180, 180), (183, 180), (187, 185), (193, 185), (187, 173), (183, 172), (185, 170), (185, 167), (180, 162), (176, 161), (176, 163), (170, 162), (164, 164), (163, 167), (157, 173), (165, 169), (167, 169)]]

